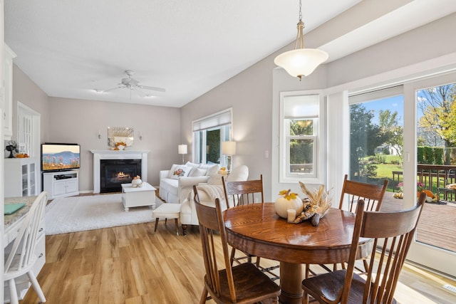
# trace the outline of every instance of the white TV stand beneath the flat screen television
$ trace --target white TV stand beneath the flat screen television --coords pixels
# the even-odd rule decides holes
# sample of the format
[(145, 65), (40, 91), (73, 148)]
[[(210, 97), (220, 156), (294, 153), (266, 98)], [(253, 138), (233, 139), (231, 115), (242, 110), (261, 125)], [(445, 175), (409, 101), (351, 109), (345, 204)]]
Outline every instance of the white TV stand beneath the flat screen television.
[(48, 192), (48, 199), (79, 194), (79, 171), (43, 173), (43, 190)]

